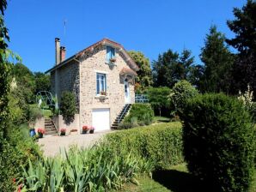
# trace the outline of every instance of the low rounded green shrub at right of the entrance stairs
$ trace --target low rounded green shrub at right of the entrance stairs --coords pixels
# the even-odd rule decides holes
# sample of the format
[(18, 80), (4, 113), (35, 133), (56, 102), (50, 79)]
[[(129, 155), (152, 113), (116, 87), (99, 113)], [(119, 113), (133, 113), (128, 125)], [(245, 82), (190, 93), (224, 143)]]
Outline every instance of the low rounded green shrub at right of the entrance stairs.
[(149, 125), (153, 122), (154, 111), (148, 104), (133, 104), (129, 115), (125, 117), (123, 123), (119, 125), (120, 128), (129, 129), (137, 127), (137, 125)]

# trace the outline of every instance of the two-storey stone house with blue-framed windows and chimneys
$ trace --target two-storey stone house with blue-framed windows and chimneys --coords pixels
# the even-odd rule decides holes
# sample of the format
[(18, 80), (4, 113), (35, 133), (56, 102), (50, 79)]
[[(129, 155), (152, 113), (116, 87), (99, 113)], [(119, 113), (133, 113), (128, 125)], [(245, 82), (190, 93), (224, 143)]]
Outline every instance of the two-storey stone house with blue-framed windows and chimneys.
[[(111, 129), (124, 107), (135, 102), (134, 79), (139, 69), (123, 45), (102, 39), (65, 59), (65, 48), (55, 39), (56, 64), (51, 74), (52, 94), (76, 95), (76, 123), (70, 129), (82, 132), (83, 125), (95, 131)], [(69, 128), (68, 128), (69, 129)]]

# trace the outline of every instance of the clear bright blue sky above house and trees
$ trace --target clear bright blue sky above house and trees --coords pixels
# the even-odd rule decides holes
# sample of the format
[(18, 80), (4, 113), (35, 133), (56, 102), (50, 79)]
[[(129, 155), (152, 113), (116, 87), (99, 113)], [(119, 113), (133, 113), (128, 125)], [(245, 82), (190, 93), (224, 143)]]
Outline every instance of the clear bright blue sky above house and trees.
[[(169, 48), (192, 51), (196, 62), (210, 25), (233, 37), (226, 25), (246, 0), (11, 0), (5, 14), (9, 48), (32, 71), (55, 62), (54, 39), (67, 57), (105, 37), (143, 51), (150, 61)], [(66, 29), (64, 33), (64, 20)]]

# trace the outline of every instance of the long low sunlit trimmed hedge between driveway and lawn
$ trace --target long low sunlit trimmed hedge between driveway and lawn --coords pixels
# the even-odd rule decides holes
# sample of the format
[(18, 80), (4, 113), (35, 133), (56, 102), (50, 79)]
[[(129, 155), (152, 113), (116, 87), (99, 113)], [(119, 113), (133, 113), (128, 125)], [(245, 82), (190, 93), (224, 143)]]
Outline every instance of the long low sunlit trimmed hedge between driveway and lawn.
[(147, 127), (119, 130), (108, 134), (103, 143), (109, 153), (132, 153), (152, 161), (155, 166), (183, 162), (181, 123), (161, 123)]

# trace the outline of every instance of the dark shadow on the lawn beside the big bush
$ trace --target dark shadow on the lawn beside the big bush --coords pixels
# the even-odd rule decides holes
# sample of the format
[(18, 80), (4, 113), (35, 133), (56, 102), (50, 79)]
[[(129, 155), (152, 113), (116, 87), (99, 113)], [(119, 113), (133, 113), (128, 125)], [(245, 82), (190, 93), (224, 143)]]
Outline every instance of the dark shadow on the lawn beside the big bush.
[(174, 192), (205, 192), (209, 191), (205, 184), (200, 181), (197, 177), (192, 176), (190, 173), (177, 170), (159, 170), (153, 172), (153, 179), (161, 183), (167, 189)]

